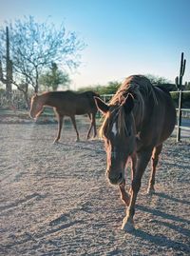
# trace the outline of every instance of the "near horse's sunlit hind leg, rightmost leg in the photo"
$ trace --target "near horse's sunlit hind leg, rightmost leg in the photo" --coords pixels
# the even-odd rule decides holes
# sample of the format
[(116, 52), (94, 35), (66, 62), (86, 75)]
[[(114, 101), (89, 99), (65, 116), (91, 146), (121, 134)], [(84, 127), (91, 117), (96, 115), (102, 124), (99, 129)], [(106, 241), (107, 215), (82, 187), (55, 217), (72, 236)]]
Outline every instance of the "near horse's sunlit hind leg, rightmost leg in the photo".
[(158, 147), (155, 147), (152, 153), (152, 170), (150, 174), (150, 180), (148, 184), (147, 193), (153, 193), (155, 191), (155, 174), (156, 174), (156, 167), (159, 162), (159, 155), (161, 153), (162, 144)]

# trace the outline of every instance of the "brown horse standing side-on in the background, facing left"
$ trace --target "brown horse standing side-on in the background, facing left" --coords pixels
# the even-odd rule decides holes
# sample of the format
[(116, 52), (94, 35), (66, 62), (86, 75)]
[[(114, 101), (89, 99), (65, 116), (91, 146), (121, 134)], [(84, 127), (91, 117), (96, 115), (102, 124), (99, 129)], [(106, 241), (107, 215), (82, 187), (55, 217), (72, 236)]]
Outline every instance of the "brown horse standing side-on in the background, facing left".
[(87, 113), (91, 121), (90, 128), (87, 132), (87, 139), (89, 139), (92, 128), (94, 128), (94, 137), (97, 135), (95, 116), (98, 109), (95, 105), (94, 96), (99, 97), (99, 95), (93, 91), (77, 93), (70, 90), (48, 91), (41, 95), (35, 94), (31, 98), (29, 115), (31, 118), (37, 118), (42, 113), (44, 106), (54, 108), (58, 117), (58, 133), (54, 142), (58, 142), (61, 136), (64, 116), (70, 117), (77, 133), (77, 141), (79, 141), (79, 132), (76, 126), (75, 115)]

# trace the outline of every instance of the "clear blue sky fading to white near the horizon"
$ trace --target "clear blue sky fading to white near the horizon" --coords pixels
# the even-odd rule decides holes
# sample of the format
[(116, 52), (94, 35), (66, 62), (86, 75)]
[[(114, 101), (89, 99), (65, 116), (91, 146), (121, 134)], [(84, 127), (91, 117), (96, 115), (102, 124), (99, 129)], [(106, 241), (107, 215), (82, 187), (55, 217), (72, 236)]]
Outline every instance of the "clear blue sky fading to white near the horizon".
[(0, 24), (32, 15), (74, 30), (85, 41), (72, 89), (151, 73), (190, 81), (190, 0), (0, 0)]

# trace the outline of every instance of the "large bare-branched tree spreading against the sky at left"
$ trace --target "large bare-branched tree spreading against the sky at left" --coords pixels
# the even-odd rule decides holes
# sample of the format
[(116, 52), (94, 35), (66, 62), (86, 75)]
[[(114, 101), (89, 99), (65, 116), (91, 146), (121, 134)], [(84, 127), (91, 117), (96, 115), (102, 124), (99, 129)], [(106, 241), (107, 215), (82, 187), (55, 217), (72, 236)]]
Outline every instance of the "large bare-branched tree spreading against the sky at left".
[[(80, 65), (80, 52), (85, 48), (75, 32), (66, 32), (49, 22), (37, 23), (32, 16), (7, 22), (10, 30), (10, 58), (12, 84), (23, 91), (28, 103), (28, 88), (39, 89), (39, 76), (52, 62), (62, 69), (76, 69)], [(0, 28), (0, 58), (5, 61), (6, 30)]]

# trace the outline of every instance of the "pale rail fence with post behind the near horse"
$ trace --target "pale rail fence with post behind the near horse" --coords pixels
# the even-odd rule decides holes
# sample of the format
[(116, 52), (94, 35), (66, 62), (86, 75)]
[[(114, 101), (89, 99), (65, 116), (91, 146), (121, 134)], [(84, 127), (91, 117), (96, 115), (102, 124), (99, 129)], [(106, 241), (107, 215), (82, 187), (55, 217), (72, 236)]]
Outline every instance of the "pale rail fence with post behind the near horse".
[[(181, 130), (190, 131), (190, 108), (181, 108), (182, 93), (190, 93), (190, 90), (178, 90), (170, 91), (171, 94), (179, 93), (179, 108), (176, 108), (177, 111), (177, 125), (175, 126), (177, 130), (176, 140), (180, 141)], [(103, 94), (101, 95), (102, 99), (105, 102), (108, 102), (114, 94)], [(189, 120), (189, 126), (181, 126), (181, 118)], [(187, 124), (188, 125), (188, 124)], [(190, 137), (190, 133), (189, 133)]]

